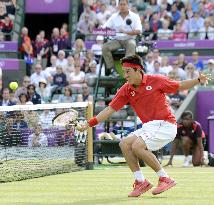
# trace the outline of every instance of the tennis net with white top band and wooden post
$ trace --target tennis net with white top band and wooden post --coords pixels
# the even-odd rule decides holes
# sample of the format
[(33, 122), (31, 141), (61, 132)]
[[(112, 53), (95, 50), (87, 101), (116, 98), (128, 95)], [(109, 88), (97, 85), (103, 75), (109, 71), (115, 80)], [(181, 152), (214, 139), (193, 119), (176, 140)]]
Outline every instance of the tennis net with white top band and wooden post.
[(52, 124), (71, 109), (84, 122), (92, 107), (79, 102), (0, 107), (0, 182), (92, 169), (92, 129), (80, 133)]

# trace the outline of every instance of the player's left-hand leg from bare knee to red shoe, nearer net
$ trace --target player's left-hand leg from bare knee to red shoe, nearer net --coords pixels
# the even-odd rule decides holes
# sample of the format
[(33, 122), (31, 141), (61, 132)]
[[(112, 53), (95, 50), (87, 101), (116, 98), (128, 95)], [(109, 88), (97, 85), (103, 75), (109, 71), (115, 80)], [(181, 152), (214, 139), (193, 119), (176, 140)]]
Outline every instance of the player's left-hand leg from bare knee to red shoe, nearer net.
[(140, 170), (138, 158), (132, 151), (132, 144), (136, 139), (137, 137), (131, 134), (120, 142), (120, 148), (123, 156), (135, 177), (135, 182), (133, 184), (134, 189), (129, 193), (129, 197), (138, 197), (152, 188), (152, 184), (144, 178)]

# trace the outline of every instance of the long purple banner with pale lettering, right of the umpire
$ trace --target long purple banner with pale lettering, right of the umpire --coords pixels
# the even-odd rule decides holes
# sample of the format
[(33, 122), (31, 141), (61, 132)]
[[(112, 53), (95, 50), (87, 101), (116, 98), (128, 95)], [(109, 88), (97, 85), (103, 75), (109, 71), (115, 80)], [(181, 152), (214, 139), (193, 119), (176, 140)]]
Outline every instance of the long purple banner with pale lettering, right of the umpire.
[(214, 40), (157, 41), (158, 49), (213, 49)]

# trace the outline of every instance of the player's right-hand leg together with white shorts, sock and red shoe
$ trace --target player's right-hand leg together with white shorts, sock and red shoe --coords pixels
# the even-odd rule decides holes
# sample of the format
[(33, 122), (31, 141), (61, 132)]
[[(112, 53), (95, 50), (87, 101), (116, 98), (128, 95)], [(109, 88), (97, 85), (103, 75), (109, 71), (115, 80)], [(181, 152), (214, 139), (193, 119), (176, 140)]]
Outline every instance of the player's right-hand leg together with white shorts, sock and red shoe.
[(152, 191), (153, 194), (160, 194), (176, 185), (176, 182), (169, 178), (157, 158), (151, 152), (157, 151), (173, 141), (176, 133), (176, 125), (162, 120), (145, 123), (142, 129), (133, 133), (138, 137), (132, 145), (133, 152), (138, 158), (144, 160), (159, 176), (158, 186)]

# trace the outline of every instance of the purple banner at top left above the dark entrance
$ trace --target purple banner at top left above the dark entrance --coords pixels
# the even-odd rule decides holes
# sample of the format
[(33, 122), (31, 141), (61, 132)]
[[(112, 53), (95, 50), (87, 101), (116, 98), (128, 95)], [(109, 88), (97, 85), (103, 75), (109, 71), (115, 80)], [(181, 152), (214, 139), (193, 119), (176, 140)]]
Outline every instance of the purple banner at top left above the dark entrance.
[(69, 13), (70, 0), (26, 0), (26, 13)]

